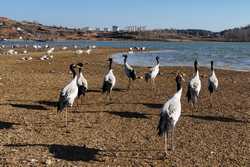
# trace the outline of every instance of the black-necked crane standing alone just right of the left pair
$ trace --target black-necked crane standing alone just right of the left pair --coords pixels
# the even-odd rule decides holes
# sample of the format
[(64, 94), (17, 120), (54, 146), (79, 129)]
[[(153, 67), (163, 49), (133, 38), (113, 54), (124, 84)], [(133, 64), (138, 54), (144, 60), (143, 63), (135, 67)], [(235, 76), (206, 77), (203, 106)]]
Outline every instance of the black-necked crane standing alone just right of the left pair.
[(108, 61), (109, 61), (109, 70), (108, 70), (108, 73), (104, 76), (103, 85), (102, 85), (102, 93), (106, 93), (110, 100), (111, 91), (115, 86), (116, 78), (112, 69), (113, 59), (109, 58)]

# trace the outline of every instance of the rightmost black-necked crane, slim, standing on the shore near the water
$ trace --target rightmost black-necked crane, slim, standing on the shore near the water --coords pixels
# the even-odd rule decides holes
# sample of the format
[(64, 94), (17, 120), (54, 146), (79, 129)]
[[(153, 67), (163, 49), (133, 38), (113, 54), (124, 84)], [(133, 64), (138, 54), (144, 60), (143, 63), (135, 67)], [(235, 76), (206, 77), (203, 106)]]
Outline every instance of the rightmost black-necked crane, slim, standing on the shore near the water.
[(213, 92), (215, 92), (217, 89), (218, 89), (218, 85), (219, 85), (219, 82), (218, 82), (218, 79), (215, 75), (215, 72), (214, 72), (214, 62), (211, 61), (211, 73), (210, 73), (210, 76), (208, 78), (208, 90), (210, 92), (210, 103), (211, 103), (211, 106), (212, 106), (212, 94)]

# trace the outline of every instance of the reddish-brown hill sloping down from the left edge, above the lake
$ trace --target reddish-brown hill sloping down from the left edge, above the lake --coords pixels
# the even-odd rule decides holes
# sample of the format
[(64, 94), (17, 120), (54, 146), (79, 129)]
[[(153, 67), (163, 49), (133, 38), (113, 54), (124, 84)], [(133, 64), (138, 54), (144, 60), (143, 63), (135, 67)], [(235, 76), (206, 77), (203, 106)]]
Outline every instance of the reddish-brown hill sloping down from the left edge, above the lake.
[(59, 26), (46, 26), (37, 22), (15, 21), (5, 17), (0, 17), (0, 39), (91, 39), (95, 38), (95, 33), (88, 33), (80, 29), (66, 28)]

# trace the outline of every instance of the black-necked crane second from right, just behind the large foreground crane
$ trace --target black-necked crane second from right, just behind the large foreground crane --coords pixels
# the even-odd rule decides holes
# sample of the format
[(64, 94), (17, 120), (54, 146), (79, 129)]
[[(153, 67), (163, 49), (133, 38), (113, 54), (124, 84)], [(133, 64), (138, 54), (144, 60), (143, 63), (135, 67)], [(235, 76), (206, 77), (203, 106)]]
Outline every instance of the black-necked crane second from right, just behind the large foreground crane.
[(194, 61), (194, 69), (195, 69), (195, 74), (188, 83), (188, 89), (187, 89), (188, 102), (191, 102), (192, 106), (195, 106), (195, 104), (197, 103), (199, 93), (201, 90), (201, 80), (199, 76), (197, 60)]

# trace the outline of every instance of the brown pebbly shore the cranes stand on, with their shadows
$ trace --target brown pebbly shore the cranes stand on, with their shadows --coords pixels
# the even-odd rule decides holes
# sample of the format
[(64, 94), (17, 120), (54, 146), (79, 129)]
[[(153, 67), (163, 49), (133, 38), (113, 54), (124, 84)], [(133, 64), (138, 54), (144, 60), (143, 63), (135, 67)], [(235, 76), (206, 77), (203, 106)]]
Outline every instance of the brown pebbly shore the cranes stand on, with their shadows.
[[(192, 68), (161, 68), (157, 91), (136, 80), (127, 91), (121, 65), (114, 65), (117, 85), (111, 104), (100, 93), (106, 59), (121, 49), (98, 48), (90, 55), (56, 52), (50, 62), (0, 57), (0, 164), (6, 166), (247, 166), (250, 155), (250, 73), (217, 70), (219, 91), (210, 107), (208, 69), (201, 68), (199, 111), (182, 95), (176, 149), (164, 158), (157, 136), (159, 111), (176, 90), (175, 73)], [(70, 80), (70, 63), (83, 62), (90, 91), (78, 113), (57, 114), (59, 91)], [(136, 68), (143, 75), (147, 68)]]

